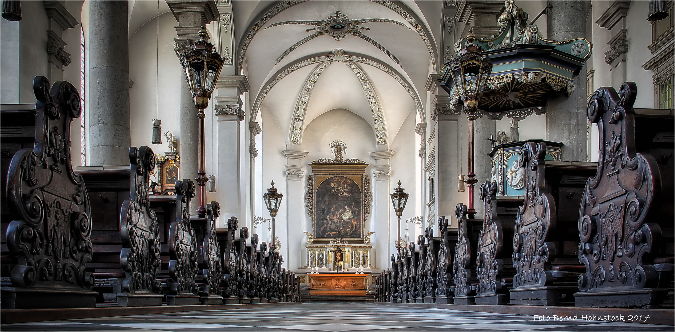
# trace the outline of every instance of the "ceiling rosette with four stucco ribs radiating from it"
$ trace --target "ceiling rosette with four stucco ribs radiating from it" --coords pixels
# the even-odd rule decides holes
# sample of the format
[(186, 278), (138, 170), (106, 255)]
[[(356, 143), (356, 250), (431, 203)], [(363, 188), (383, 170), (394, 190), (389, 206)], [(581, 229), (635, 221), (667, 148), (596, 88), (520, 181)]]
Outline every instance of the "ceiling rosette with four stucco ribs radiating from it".
[(283, 26), (286, 24), (304, 24), (304, 25), (311, 25), (311, 26), (317, 26), (317, 28), (311, 28), (305, 30), (306, 32), (310, 31), (316, 31), (314, 34), (311, 36), (307, 36), (306, 38), (303, 38), (300, 40), (298, 43), (295, 43), (293, 46), (289, 47), (284, 53), (281, 53), (281, 55), (277, 58), (277, 63), (284, 59), (288, 53), (291, 53), (294, 49), (297, 49), (300, 47), (300, 45), (308, 42), (309, 40), (312, 40), (314, 38), (317, 38), (318, 36), (323, 36), (324, 34), (327, 34), (333, 39), (340, 41), (343, 38), (346, 38), (346, 36), (349, 36), (350, 34), (352, 36), (357, 36), (363, 40), (366, 40), (368, 43), (371, 43), (373, 46), (377, 47), (380, 51), (391, 57), (394, 62), (399, 63), (400, 61), (398, 58), (396, 58), (391, 52), (389, 52), (387, 49), (385, 49), (382, 45), (377, 43), (375, 40), (370, 38), (369, 36), (366, 36), (365, 34), (362, 34), (361, 31), (364, 30), (371, 30), (371, 28), (367, 28), (365, 26), (360, 26), (362, 23), (369, 23), (369, 22), (385, 22), (385, 23), (393, 23), (393, 24), (400, 24), (402, 26), (406, 26), (405, 24), (401, 22), (396, 22), (394, 20), (387, 20), (384, 18), (366, 18), (364, 20), (350, 20), (344, 13), (340, 13), (340, 11), (335, 11), (333, 15), (329, 15), (326, 20), (321, 20), (321, 21), (286, 21), (286, 22), (279, 22), (275, 24), (271, 24), (265, 29), (272, 28), (274, 26)]

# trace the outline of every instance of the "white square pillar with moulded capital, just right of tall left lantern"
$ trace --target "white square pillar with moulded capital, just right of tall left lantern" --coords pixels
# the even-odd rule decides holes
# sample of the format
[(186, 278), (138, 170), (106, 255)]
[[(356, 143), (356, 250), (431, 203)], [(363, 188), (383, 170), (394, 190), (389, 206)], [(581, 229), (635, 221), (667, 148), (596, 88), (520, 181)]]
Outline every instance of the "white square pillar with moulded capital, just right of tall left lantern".
[(241, 165), (240, 121), (245, 114), (239, 96), (248, 91), (248, 81), (243, 75), (220, 76), (215, 87), (218, 93), (213, 105), (218, 123), (216, 179), (221, 219), (236, 216), (240, 219), (240, 227), (252, 229), (252, 223), (242, 215), (241, 209), (242, 200), (246, 198), (245, 188), (241, 185), (242, 173), (246, 174), (246, 171)]

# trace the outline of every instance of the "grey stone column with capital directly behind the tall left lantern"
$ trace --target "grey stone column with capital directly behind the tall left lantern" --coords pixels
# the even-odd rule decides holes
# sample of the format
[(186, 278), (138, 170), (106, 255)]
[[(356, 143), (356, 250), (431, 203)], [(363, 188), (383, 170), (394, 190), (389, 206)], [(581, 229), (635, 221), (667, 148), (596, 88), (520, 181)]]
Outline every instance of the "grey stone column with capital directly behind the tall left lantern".
[[(178, 38), (174, 40), (175, 47), (183, 45), (182, 43), (186, 42), (188, 38), (198, 39), (201, 26), (205, 26), (217, 18), (218, 11), (214, 1), (167, 1), (167, 5), (169, 5), (175, 20), (178, 21), (178, 26), (175, 27), (175, 32), (178, 34)], [(192, 91), (188, 82), (186, 82), (185, 72), (183, 72), (181, 80), (177, 84), (180, 84), (180, 134), (178, 135), (180, 177), (194, 180), (197, 177), (199, 153), (197, 109), (194, 107)], [(211, 102), (213, 103), (213, 101)], [(207, 173), (209, 173), (208, 169)], [(216, 177), (216, 186), (219, 182), (220, 178)], [(219, 203), (222, 202), (219, 201)], [(222, 206), (221, 204), (221, 211)], [(198, 207), (198, 198), (195, 197), (190, 202), (191, 213), (196, 214)], [(222, 212), (221, 216), (219, 219), (227, 220)]]

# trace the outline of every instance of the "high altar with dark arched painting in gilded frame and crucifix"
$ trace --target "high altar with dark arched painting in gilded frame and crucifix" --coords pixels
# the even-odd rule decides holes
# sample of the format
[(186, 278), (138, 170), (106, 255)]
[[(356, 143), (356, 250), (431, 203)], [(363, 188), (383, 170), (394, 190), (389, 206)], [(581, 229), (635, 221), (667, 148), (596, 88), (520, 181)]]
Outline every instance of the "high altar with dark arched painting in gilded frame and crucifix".
[[(344, 143), (331, 143), (335, 159), (319, 159), (309, 164), (305, 204), (312, 221), (307, 235), (308, 273), (377, 272), (371, 256), (371, 236), (365, 220), (371, 213), (371, 182), (365, 161), (343, 159)], [(301, 278), (302, 279), (302, 278)], [(308, 281), (308, 280), (307, 280)]]

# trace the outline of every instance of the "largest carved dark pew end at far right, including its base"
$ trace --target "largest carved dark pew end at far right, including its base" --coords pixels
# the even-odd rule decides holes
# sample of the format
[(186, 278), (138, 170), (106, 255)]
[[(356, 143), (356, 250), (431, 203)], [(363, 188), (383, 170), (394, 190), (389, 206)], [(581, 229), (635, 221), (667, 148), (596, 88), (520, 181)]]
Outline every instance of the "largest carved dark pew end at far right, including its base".
[[(578, 254), (586, 273), (578, 277), (575, 306), (649, 306), (666, 295), (655, 288), (658, 272), (650, 265), (661, 236), (655, 213), (661, 174), (651, 155), (635, 152), (635, 96), (635, 83), (624, 82), (618, 94), (599, 88), (589, 102), (599, 155), (579, 211)], [(672, 219), (666, 222), (672, 227)]]

